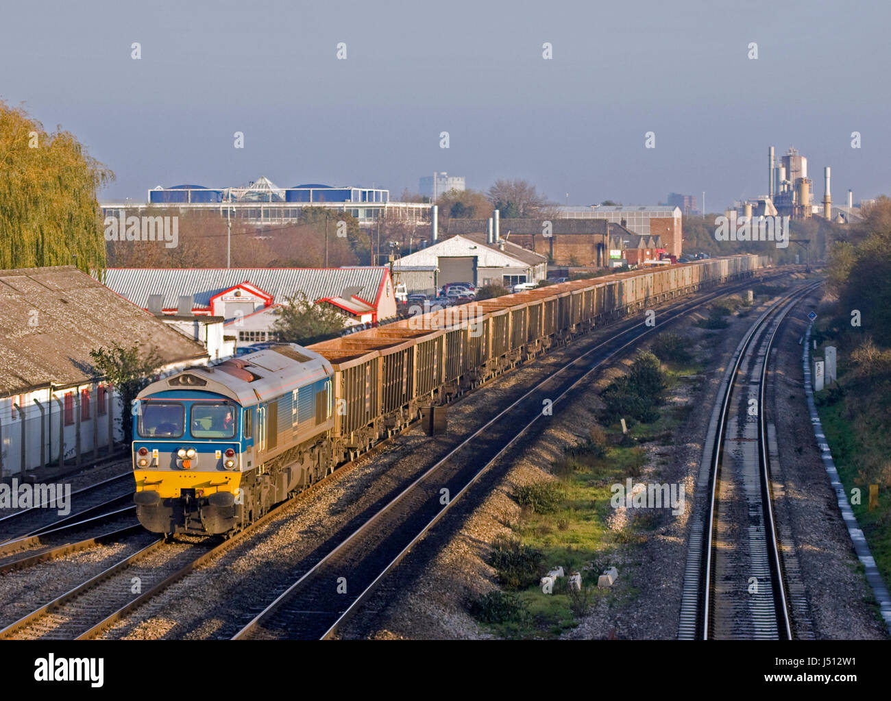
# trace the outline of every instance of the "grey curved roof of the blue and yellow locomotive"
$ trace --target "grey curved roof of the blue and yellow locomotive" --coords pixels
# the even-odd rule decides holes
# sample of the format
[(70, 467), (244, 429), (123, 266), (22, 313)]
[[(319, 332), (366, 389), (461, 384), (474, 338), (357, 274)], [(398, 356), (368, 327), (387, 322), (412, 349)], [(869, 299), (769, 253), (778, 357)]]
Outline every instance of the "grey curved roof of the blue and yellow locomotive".
[(177, 372), (152, 382), (139, 397), (176, 389), (200, 389), (250, 405), (266, 402), (331, 374), (331, 363), (321, 355), (295, 343), (280, 343), (218, 365)]

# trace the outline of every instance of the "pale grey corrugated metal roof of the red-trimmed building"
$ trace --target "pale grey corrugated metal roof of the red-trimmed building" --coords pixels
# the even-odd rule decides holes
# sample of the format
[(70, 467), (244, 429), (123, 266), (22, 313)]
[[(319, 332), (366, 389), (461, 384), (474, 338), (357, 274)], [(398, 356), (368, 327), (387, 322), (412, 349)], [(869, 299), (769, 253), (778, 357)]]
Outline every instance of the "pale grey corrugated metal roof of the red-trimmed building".
[(388, 269), (349, 268), (109, 268), (105, 284), (135, 305), (149, 306), (149, 295), (161, 295), (164, 308), (176, 306), (181, 295), (192, 295), (195, 306), (209, 307), (210, 298), (248, 281), (273, 296), (274, 304), (303, 292), (309, 299), (339, 297), (347, 287), (374, 302)]

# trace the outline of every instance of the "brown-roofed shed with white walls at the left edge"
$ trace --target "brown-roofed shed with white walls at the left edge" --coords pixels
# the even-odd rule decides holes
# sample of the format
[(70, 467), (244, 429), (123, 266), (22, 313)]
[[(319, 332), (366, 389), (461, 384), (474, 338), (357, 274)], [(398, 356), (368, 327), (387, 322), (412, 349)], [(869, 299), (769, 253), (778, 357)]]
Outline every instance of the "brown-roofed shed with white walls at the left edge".
[(91, 350), (138, 342), (159, 355), (159, 376), (208, 362), (200, 343), (71, 265), (0, 271), (0, 308), (0, 479), (79, 466), (129, 439)]

